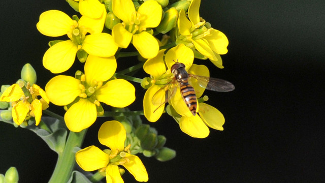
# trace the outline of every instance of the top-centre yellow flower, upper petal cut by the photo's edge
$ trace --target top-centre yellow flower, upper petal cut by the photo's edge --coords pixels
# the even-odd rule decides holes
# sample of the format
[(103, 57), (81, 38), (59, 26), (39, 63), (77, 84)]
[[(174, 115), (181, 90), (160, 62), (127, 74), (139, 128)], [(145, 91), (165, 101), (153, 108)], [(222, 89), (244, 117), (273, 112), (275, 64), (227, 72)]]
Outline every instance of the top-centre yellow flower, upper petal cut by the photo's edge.
[(131, 0), (113, 0), (113, 13), (123, 21), (112, 29), (112, 36), (121, 48), (126, 48), (130, 42), (144, 58), (156, 56), (159, 50), (157, 40), (147, 28), (159, 25), (161, 6), (153, 0), (144, 2), (136, 11)]

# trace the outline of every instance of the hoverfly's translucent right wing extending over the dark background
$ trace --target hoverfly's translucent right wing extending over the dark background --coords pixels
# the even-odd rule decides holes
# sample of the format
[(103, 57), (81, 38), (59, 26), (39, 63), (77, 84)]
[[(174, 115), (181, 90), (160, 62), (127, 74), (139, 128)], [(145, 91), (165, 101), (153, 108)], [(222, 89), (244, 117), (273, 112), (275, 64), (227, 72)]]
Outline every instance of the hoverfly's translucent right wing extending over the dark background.
[(210, 78), (206, 76), (198, 76), (190, 74), (190, 77), (196, 78), (198, 80), (198, 84), (201, 87), (206, 89), (215, 91), (215, 92), (231, 92), (235, 89), (234, 84), (229, 81), (218, 79), (218, 78)]

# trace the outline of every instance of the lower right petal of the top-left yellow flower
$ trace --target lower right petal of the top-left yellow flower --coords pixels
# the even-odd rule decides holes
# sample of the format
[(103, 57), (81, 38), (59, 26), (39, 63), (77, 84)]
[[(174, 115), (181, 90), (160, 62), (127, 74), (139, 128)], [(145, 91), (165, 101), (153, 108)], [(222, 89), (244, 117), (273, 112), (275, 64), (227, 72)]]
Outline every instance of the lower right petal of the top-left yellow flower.
[(88, 35), (82, 42), (82, 49), (95, 56), (113, 56), (117, 48), (118, 46), (115, 44), (113, 37), (107, 33)]

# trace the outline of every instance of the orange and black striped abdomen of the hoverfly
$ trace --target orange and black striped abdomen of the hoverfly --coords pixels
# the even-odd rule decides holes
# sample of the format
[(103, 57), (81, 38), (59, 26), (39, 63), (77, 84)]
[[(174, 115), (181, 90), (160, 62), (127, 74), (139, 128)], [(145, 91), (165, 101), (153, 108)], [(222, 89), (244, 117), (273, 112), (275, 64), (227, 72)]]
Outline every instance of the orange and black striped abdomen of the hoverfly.
[(194, 88), (186, 83), (179, 83), (181, 88), (181, 95), (184, 99), (184, 102), (186, 103), (188, 109), (192, 112), (192, 114), (195, 116), (197, 114), (197, 96), (195, 95)]

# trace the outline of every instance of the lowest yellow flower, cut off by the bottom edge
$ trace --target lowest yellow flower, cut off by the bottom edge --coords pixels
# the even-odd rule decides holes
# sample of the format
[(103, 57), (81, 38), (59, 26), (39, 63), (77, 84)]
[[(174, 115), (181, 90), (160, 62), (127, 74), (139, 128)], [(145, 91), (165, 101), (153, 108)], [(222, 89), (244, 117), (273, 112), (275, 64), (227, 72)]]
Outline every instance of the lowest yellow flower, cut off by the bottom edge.
[(106, 172), (107, 182), (124, 182), (118, 165), (126, 168), (138, 181), (148, 181), (148, 173), (139, 157), (129, 154), (128, 145), (124, 147), (126, 132), (116, 120), (106, 121), (98, 132), (101, 144), (111, 150), (102, 151), (96, 146), (89, 146), (76, 153), (76, 162), (85, 171), (101, 170)]

